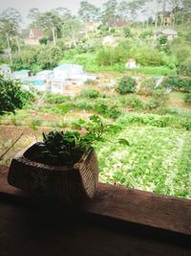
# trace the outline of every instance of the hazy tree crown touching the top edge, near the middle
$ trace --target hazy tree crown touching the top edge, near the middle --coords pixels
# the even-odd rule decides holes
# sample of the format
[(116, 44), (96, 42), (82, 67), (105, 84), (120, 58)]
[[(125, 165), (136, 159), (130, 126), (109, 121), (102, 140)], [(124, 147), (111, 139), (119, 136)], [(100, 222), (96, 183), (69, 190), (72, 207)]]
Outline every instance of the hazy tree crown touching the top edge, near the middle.
[(99, 18), (99, 9), (95, 5), (92, 5), (88, 1), (84, 0), (80, 2), (78, 16), (85, 22), (97, 21)]

